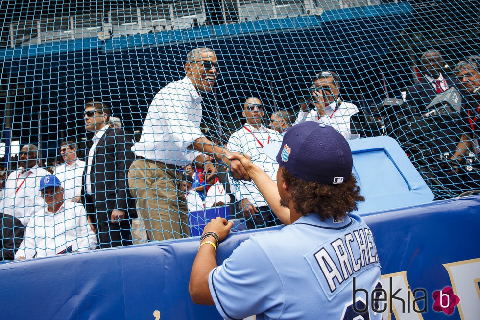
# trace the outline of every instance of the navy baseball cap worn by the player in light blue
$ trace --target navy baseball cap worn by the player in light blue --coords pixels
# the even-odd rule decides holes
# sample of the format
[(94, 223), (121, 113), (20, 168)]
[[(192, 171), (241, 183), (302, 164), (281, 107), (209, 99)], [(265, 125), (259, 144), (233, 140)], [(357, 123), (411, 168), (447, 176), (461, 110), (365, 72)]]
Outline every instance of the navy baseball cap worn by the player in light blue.
[(277, 152), (278, 164), (298, 179), (341, 184), (352, 174), (350, 146), (328, 125), (313, 121), (295, 124), (285, 133)]

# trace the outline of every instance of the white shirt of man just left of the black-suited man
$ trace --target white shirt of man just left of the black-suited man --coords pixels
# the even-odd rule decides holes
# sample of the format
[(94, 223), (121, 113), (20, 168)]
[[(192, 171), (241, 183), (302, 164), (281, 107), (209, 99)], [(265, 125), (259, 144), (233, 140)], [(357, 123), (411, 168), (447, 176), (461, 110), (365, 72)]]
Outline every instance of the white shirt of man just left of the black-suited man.
[(82, 190), (82, 176), (85, 169), (85, 161), (76, 159), (72, 165), (67, 162), (55, 167), (53, 174), (60, 180), (64, 191), (65, 201), (75, 201)]

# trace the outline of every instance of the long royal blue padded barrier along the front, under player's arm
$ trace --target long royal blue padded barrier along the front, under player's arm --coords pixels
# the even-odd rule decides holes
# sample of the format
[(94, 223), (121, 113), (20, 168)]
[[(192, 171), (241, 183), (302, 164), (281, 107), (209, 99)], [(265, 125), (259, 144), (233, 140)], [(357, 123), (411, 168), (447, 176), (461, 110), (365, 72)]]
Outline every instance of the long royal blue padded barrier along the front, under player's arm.
[[(404, 274), (412, 290), (427, 291), (427, 312), (413, 319), (458, 320), (460, 310), (462, 319), (478, 319), (480, 196), (367, 214), (365, 220), (375, 236), (382, 274)], [(249, 235), (276, 228), (230, 235), (219, 247), (217, 262)], [(0, 318), (154, 320), (160, 313), (157, 319), (221, 319), (215, 307), (197, 306), (190, 299), (197, 249), (194, 237), (2, 264)], [(447, 269), (453, 265), (464, 268)], [(448, 318), (432, 309), (432, 293), (446, 286), (460, 297)]]

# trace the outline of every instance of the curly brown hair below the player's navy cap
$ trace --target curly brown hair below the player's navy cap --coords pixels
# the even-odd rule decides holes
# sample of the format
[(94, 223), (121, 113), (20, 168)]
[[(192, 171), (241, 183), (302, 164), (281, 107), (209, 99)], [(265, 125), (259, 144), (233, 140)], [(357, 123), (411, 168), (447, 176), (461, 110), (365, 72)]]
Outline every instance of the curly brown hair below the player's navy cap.
[(331, 217), (339, 219), (357, 210), (357, 204), (365, 200), (353, 175), (342, 184), (329, 185), (300, 180), (282, 168), (282, 178), (292, 190), (288, 202), (291, 200), (303, 216), (317, 213), (322, 221)]

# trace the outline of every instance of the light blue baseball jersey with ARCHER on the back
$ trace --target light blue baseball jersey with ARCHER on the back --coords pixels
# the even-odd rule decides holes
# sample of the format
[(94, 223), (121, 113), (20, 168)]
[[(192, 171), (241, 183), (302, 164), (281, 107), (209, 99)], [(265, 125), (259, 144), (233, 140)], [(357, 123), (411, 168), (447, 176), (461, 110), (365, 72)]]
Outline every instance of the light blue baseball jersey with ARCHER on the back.
[[(354, 282), (368, 295), (356, 290), (353, 297)], [(216, 308), (226, 319), (381, 319), (367, 308), (380, 286), (373, 236), (357, 215), (322, 222), (310, 214), (254, 235), (209, 275)]]

